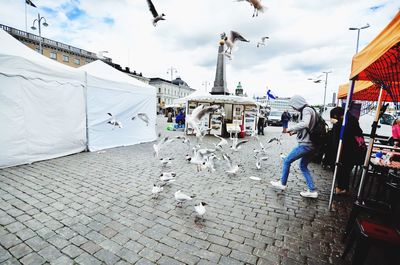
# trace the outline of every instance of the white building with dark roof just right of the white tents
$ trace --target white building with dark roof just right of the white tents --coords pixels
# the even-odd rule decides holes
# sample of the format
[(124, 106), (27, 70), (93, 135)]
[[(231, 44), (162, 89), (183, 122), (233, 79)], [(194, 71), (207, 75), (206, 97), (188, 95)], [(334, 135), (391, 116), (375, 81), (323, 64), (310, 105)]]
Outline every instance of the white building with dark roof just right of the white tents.
[(157, 108), (160, 111), (168, 105), (172, 105), (174, 99), (183, 98), (193, 93), (193, 88), (183, 81), (180, 77), (168, 81), (159, 77), (150, 78), (149, 85), (157, 90)]

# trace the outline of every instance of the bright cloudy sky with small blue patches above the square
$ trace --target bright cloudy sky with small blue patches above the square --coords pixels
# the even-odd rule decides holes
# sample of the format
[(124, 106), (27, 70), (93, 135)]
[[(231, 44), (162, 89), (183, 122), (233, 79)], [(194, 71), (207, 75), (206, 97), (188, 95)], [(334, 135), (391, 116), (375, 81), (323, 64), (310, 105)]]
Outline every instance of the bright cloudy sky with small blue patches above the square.
[[(241, 81), (249, 96), (271, 89), (280, 97), (303, 95), (322, 103), (324, 83), (307, 78), (332, 71), (327, 102), (338, 85), (348, 81), (357, 32), (364, 26), (360, 50), (390, 22), (399, 10), (395, 0), (263, 0), (268, 9), (253, 18), (247, 2), (234, 0), (153, 0), (166, 21), (151, 23), (146, 0), (32, 0), (28, 32), (37, 12), (46, 17), (46, 38), (91, 52), (107, 50), (122, 67), (146, 77), (170, 79), (173, 66), (192, 88), (204, 90), (215, 77), (220, 33), (240, 32), (250, 43), (238, 42), (227, 60), (230, 92)], [(0, 23), (25, 30), (25, 1), (1, 0)], [(269, 36), (265, 47), (256, 44)], [(268, 88), (267, 88), (268, 87)]]

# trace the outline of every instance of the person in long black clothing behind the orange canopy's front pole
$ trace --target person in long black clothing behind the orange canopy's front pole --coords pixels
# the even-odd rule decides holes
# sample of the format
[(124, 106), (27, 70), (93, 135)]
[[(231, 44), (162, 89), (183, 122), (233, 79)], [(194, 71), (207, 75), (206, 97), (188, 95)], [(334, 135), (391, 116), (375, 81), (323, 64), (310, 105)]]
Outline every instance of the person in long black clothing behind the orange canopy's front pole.
[[(332, 127), (332, 143), (329, 148), (331, 157), (336, 160), (340, 131), (344, 110), (341, 107), (333, 108), (330, 112)], [(363, 137), (360, 124), (350, 112), (347, 112), (347, 124), (343, 134), (342, 152), (337, 172), (336, 194), (345, 194), (349, 190), (350, 173), (354, 165), (362, 163), (365, 155), (360, 151), (356, 137)], [(334, 164), (333, 164), (334, 165)]]

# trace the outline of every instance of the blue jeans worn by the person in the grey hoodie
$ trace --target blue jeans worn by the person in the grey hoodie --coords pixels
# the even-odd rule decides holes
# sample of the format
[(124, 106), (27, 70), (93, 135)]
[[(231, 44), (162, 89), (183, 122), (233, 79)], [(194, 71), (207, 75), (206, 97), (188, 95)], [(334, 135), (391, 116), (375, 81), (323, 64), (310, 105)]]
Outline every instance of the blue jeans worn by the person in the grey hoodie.
[(283, 185), (286, 185), (287, 179), (289, 176), (290, 165), (301, 158), (300, 160), (300, 170), (306, 179), (308, 189), (310, 191), (315, 190), (314, 182), (312, 180), (310, 171), (307, 166), (311, 162), (313, 158), (314, 148), (308, 145), (298, 145), (287, 155), (287, 157), (283, 160), (283, 168), (282, 168), (282, 177), (281, 182)]

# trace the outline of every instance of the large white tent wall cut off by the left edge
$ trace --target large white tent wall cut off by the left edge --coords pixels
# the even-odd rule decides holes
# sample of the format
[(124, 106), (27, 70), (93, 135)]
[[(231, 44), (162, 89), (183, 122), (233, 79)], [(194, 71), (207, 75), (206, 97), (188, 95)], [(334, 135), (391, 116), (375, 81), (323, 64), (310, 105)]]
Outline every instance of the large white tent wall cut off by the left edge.
[(84, 72), (0, 30), (0, 168), (86, 148)]

